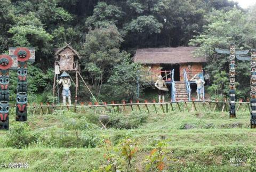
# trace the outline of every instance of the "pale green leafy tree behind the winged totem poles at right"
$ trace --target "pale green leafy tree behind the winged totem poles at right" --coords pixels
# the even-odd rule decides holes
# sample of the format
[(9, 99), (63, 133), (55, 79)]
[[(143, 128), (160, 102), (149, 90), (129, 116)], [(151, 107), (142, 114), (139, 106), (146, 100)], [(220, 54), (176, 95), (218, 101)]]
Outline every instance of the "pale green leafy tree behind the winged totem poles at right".
[[(228, 48), (230, 43), (235, 43), (236, 48), (241, 49), (256, 46), (256, 24), (250, 19), (252, 19), (250, 15), (235, 8), (228, 12), (213, 10), (202, 34), (190, 40), (190, 45), (199, 46), (195, 55), (208, 57), (206, 70), (211, 76), (220, 75), (220, 71), (226, 71), (228, 76), (229, 70), (228, 55), (218, 55), (214, 50), (215, 47)], [(249, 90), (245, 88), (249, 88), (250, 85), (250, 64), (243, 61), (236, 61), (236, 64), (236, 81), (240, 84), (237, 90), (243, 90), (240, 95), (237, 92), (237, 95), (246, 98), (249, 95), (247, 94)]]

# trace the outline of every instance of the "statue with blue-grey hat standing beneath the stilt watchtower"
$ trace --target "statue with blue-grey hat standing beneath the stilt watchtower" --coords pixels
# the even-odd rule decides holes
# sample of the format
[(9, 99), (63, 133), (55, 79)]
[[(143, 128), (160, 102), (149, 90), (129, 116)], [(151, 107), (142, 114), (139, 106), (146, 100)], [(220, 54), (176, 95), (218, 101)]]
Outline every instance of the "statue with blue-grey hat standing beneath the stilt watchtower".
[(63, 89), (62, 89), (62, 97), (63, 97), (63, 105), (66, 105), (66, 97), (68, 97), (68, 104), (71, 105), (71, 94), (69, 87), (71, 86), (71, 81), (70, 81), (70, 76), (68, 75), (67, 72), (63, 72), (61, 74), (61, 79), (57, 80), (58, 84), (62, 84)]

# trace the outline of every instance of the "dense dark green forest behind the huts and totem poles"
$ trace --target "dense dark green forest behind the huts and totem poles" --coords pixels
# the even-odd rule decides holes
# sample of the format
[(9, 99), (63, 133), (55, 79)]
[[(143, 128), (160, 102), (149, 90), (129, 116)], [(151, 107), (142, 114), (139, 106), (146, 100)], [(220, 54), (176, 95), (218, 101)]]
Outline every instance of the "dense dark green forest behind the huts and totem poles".
[[(42, 101), (51, 101), (54, 54), (70, 43), (81, 54), (82, 76), (98, 99), (118, 100), (134, 95), (140, 68), (131, 61), (136, 48), (199, 46), (195, 55), (207, 56), (205, 69), (214, 80), (209, 92), (225, 95), (228, 59), (214, 47), (234, 42), (237, 48), (256, 48), (255, 10), (228, 0), (0, 0), (0, 53), (35, 47), (29, 100), (41, 93)], [(237, 62), (238, 88), (243, 88), (237, 95), (244, 99), (249, 65)], [(15, 75), (11, 72), (11, 78)], [(12, 79), (13, 92), (15, 85)], [(78, 96), (90, 98), (82, 83)]]

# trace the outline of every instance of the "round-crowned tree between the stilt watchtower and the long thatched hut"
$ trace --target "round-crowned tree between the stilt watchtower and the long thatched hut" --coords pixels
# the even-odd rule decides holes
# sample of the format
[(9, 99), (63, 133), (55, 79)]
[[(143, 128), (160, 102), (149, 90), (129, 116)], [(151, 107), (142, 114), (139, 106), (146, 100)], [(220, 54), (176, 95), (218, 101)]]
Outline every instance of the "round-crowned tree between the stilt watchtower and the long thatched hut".
[(81, 54), (84, 72), (90, 75), (91, 84), (97, 95), (107, 81), (111, 69), (127, 54), (120, 52), (123, 39), (115, 26), (89, 30)]

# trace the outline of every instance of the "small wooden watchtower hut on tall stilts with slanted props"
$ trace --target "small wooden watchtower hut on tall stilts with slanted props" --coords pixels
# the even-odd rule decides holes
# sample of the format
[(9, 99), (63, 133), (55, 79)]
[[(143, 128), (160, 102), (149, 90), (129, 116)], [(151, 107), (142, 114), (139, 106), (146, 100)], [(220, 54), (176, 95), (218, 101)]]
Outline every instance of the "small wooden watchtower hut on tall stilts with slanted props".
[[(86, 85), (84, 79), (80, 75), (80, 65), (78, 63), (78, 60), (81, 59), (78, 52), (75, 51), (69, 44), (66, 44), (65, 46), (59, 48), (56, 55), (56, 61), (55, 61), (55, 75), (54, 75), (54, 83), (53, 83), (53, 96), (56, 92), (57, 87), (57, 95), (58, 95), (58, 103), (59, 103), (59, 86), (56, 83), (56, 80), (59, 79), (59, 74), (61, 71), (65, 71), (70, 75), (71, 81), (75, 84), (75, 105), (77, 104), (77, 91), (78, 91), (78, 77), (81, 77), (83, 83), (89, 89), (89, 87)], [(73, 79), (75, 78), (75, 79)], [(90, 89), (89, 92), (91, 93)], [(91, 93), (93, 96), (93, 94)]]

